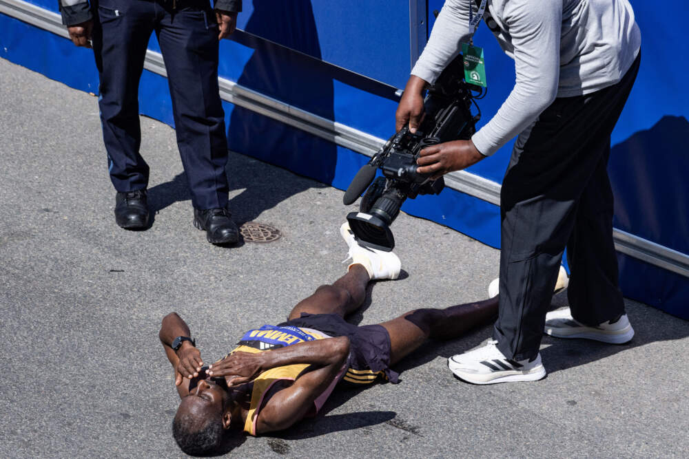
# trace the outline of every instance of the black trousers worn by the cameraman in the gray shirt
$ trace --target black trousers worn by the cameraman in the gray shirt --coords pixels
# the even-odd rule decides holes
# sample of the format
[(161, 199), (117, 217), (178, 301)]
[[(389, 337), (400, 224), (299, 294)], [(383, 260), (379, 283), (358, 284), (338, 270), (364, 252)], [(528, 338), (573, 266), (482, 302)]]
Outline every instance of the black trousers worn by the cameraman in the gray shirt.
[(500, 314), (493, 330), (508, 358), (538, 354), (562, 253), (574, 319), (624, 314), (613, 244), (610, 134), (639, 70), (593, 94), (557, 98), (515, 142), (502, 182)]

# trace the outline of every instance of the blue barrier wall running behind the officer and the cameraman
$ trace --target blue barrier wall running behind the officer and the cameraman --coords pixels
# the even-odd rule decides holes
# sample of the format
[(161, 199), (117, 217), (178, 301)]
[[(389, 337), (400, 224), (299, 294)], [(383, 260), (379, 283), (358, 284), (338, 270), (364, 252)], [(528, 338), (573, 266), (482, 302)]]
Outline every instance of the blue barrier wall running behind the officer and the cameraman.
[[(32, 0), (56, 11), (55, 0)], [(442, 0), (411, 2), (430, 30)], [(637, 84), (613, 133), (610, 176), (616, 195), (615, 227), (680, 253), (689, 253), (689, 59), (676, 39), (689, 12), (680, 0), (662, 10), (632, 1), (643, 35)], [(244, 87), (379, 138), (394, 129), (396, 87), (409, 76), (410, 2), (371, 0), (351, 5), (329, 0), (245, 0), (232, 40), (220, 46), (220, 76)], [(676, 14), (667, 15), (668, 10)], [(683, 14), (682, 14), (683, 13)], [(659, 27), (658, 25), (662, 25)], [(413, 29), (413, 27), (412, 27)], [(27, 37), (30, 36), (30, 39)], [(480, 101), (486, 122), (514, 83), (514, 65), (482, 25), (489, 93)], [(150, 49), (158, 51), (153, 38)], [(50, 78), (97, 93), (92, 53), (70, 41), (0, 14), (0, 56)], [(661, 74), (659, 74), (661, 72)], [(144, 72), (141, 113), (174, 125), (165, 78)], [(94, 100), (95, 103), (95, 100)], [(223, 103), (229, 147), (340, 189), (367, 157), (305, 131)], [(260, 142), (256, 139), (260, 138)], [(495, 182), (512, 142), (469, 172)], [(105, 173), (105, 159), (103, 159)], [(232, 175), (232, 171), (229, 171)], [(232, 180), (232, 177), (231, 177)], [(500, 245), (499, 209), (446, 189), (440, 196), (407, 200), (411, 215), (429, 218), (494, 247)], [(689, 317), (689, 279), (619, 255), (624, 294)]]

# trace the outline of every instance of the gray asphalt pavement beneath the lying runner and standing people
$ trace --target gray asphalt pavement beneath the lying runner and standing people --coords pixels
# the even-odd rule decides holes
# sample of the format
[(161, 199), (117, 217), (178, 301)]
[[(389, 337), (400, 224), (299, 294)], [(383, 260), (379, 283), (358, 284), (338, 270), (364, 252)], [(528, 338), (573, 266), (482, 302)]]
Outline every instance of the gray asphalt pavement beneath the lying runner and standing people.
[[(183, 456), (170, 432), (163, 315), (181, 314), (214, 359), (345, 272), (341, 191), (232, 154), (236, 219), (283, 236), (212, 246), (192, 226), (174, 131), (141, 122), (157, 212), (149, 231), (123, 231), (96, 98), (0, 59), (1, 457)], [(393, 229), (408, 274), (373, 286), (353, 321), (485, 297), (497, 250), (408, 215)], [(484, 327), (415, 352), (399, 385), (338, 392), (315, 420), (246, 438), (229, 455), (686, 457), (689, 323), (627, 303), (632, 343), (546, 337), (549, 374), (537, 383), (453, 378), (446, 357), (488, 337)]]

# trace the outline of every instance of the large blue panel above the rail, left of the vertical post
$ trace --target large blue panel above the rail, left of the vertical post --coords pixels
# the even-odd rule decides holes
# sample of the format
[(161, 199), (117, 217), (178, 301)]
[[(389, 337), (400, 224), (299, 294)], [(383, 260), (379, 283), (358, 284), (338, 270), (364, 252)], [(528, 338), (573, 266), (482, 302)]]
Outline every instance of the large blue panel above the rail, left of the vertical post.
[(409, 76), (408, 0), (245, 0), (238, 28), (395, 87)]

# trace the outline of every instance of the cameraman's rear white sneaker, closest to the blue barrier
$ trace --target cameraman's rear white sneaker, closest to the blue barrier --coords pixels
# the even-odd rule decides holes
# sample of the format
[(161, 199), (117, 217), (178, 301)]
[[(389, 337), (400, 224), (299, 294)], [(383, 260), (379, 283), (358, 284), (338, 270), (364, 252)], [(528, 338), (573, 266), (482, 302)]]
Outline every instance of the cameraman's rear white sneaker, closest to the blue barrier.
[(607, 321), (589, 327), (575, 321), (569, 308), (548, 312), (544, 331), (556, 338), (594, 339), (610, 344), (624, 344), (634, 337), (634, 329), (627, 319), (627, 314), (613, 323)]

